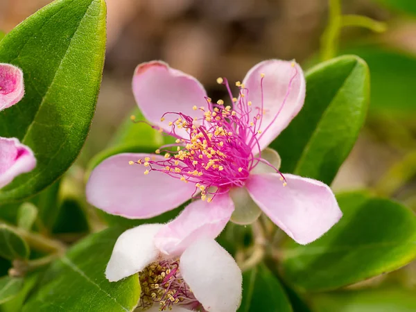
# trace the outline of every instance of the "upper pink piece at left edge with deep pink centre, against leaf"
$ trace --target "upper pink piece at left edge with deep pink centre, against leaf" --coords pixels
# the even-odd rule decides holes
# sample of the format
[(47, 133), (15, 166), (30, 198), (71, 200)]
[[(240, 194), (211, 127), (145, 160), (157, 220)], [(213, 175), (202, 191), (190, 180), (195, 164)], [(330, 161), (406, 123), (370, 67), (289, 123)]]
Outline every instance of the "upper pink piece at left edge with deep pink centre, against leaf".
[(0, 64), (0, 111), (24, 96), (23, 72), (12, 64)]

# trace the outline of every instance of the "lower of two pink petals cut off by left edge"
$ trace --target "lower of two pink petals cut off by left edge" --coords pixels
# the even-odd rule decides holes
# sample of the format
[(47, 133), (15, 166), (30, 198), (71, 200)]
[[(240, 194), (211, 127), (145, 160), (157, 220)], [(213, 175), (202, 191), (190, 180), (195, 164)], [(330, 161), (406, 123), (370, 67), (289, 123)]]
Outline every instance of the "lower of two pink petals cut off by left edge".
[(31, 148), (18, 139), (0, 137), (0, 189), (17, 175), (32, 171), (35, 166), (36, 159)]

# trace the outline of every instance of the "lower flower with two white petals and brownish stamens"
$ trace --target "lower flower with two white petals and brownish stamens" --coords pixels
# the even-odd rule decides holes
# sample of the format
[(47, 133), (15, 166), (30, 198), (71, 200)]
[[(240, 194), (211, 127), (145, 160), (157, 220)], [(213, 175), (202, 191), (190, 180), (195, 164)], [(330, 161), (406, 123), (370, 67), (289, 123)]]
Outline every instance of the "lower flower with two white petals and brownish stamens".
[(163, 227), (140, 225), (121, 234), (105, 270), (107, 279), (119, 281), (139, 272), (138, 308), (146, 311), (235, 312), (243, 277), (234, 259), (207, 238), (168, 257), (153, 241)]

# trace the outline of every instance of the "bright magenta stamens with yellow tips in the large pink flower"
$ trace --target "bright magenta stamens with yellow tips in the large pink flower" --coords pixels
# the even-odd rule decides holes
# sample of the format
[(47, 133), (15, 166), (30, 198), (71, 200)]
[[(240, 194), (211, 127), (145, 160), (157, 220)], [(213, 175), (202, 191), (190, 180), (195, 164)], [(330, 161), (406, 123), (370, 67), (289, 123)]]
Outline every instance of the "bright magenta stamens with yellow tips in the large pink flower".
[[(297, 71), (288, 85), (288, 92), (295, 76)], [(160, 171), (186, 183), (192, 182), (196, 185), (193, 196), (200, 191), (201, 199), (208, 202), (232, 187), (243, 187), (250, 171), (259, 162), (280, 173), (266, 159), (261, 158), (259, 139), (263, 135), (261, 129), (265, 132), (276, 120), (288, 93), (274, 119), (265, 127), (262, 125), (263, 114), (266, 112), (263, 107), (264, 77), (261, 73), (261, 101), (257, 105), (248, 101), (249, 90), (245, 85), (236, 83), (239, 87), (239, 98), (233, 98), (227, 80), (218, 78), (217, 83), (227, 88), (234, 109), (231, 105), (225, 106), (223, 100), (212, 103), (211, 98), (206, 98), (207, 107), (193, 106), (193, 110), (202, 112), (202, 117), (191, 117), (182, 112), (166, 112), (161, 121), (165, 121), (167, 116), (175, 116), (168, 122), (171, 131), (165, 132), (166, 135), (177, 138), (175, 144), (168, 144), (156, 150), (157, 154), (164, 154), (164, 159), (146, 157), (130, 164), (147, 166), (145, 175), (150, 171)], [(178, 130), (180, 135), (177, 134)], [(159, 132), (164, 131), (159, 128)], [(281, 178), (284, 180), (283, 175)]]

